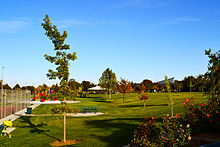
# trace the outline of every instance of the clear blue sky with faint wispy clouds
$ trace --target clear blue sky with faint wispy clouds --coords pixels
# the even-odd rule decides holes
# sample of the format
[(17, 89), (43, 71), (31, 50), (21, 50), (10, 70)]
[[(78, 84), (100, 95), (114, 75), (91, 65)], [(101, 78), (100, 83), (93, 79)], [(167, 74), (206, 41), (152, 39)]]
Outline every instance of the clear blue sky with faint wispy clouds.
[(77, 52), (70, 78), (78, 82), (97, 84), (106, 68), (134, 82), (203, 74), (204, 50), (220, 45), (219, 6), (219, 0), (1, 0), (4, 83), (59, 82), (46, 77), (54, 68), (43, 57), (54, 54), (41, 27), (46, 14)]

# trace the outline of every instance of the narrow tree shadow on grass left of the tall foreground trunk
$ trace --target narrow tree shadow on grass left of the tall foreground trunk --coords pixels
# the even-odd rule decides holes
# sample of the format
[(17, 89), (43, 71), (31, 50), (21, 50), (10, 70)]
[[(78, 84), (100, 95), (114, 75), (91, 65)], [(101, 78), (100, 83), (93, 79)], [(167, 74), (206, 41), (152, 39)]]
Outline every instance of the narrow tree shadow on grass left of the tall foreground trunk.
[(49, 135), (47, 132), (50, 132), (50, 130), (43, 130), (42, 127), (43, 126), (47, 126), (47, 124), (44, 124), (44, 123), (40, 123), (40, 124), (33, 124), (30, 120), (31, 116), (21, 116), (20, 117), (20, 122), (21, 123), (27, 123), (28, 125), (27, 126), (15, 126), (15, 127), (20, 127), (20, 128), (30, 128), (30, 132), (31, 133), (41, 133), (41, 134), (44, 134), (50, 138), (53, 138), (57, 141), (61, 141), (59, 138), (56, 138), (54, 136), (51, 136)]

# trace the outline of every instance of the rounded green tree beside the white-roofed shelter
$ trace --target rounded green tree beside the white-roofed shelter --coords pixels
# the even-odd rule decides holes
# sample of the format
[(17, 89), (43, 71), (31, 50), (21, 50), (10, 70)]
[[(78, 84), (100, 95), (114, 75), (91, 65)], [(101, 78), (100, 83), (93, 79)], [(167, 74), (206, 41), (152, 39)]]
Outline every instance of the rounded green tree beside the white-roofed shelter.
[(99, 85), (103, 88), (106, 88), (109, 93), (109, 99), (111, 99), (111, 90), (116, 87), (117, 80), (116, 75), (112, 70), (107, 68), (103, 73), (102, 76), (99, 78)]

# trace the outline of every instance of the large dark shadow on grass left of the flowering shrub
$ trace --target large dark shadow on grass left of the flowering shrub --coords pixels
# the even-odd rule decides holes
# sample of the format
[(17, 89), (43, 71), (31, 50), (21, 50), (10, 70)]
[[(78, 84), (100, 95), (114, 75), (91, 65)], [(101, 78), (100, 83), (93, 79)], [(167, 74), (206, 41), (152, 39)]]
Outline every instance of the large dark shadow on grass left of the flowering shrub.
[(88, 126), (93, 128), (101, 128), (104, 129), (104, 131), (107, 131), (107, 133), (110, 133), (108, 136), (90, 134), (91, 137), (95, 137), (102, 142), (106, 142), (108, 147), (121, 147), (129, 144), (133, 138), (134, 129), (138, 127), (137, 123), (135, 124), (134, 122), (139, 121), (141, 124), (143, 120), (144, 118), (116, 118), (105, 120), (88, 120), (85, 123)]

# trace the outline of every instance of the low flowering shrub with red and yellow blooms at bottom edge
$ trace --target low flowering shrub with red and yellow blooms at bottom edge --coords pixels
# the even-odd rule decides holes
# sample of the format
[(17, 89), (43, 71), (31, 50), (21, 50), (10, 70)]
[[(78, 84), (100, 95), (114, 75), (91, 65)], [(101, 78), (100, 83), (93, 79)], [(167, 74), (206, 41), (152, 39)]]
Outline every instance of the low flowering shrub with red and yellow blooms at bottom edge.
[(191, 140), (189, 124), (181, 123), (180, 115), (163, 118), (163, 125), (158, 126), (155, 118), (143, 122), (134, 131), (134, 139), (130, 146), (183, 146)]

